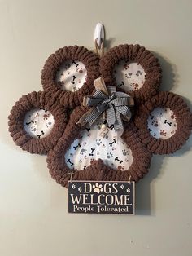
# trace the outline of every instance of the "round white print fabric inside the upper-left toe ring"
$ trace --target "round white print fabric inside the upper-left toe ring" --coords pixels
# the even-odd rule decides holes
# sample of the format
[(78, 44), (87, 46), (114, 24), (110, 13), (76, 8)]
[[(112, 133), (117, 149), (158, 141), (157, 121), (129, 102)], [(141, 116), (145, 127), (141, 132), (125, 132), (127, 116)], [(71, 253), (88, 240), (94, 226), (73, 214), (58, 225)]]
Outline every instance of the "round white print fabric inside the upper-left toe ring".
[(64, 62), (57, 72), (56, 82), (61, 89), (68, 91), (79, 90), (85, 83), (87, 71), (80, 61), (71, 60)]

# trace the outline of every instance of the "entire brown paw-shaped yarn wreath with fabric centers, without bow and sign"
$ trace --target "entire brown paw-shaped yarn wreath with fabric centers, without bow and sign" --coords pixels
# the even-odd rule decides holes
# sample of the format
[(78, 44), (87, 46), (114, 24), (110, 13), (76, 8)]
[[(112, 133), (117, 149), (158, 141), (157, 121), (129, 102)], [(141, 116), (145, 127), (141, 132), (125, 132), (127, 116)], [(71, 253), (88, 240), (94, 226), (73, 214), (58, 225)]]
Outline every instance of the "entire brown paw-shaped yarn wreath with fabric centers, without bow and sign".
[[(103, 135), (99, 118), (79, 125), (89, 112), (83, 99), (94, 94), (98, 77), (134, 100), (122, 135), (114, 126)], [(177, 151), (192, 129), (181, 96), (159, 91), (161, 77), (158, 59), (139, 45), (113, 47), (100, 59), (83, 46), (63, 47), (42, 69), (44, 90), (22, 96), (11, 109), (11, 136), (28, 152), (47, 153), (50, 175), (65, 187), (69, 179), (138, 181), (153, 153)]]

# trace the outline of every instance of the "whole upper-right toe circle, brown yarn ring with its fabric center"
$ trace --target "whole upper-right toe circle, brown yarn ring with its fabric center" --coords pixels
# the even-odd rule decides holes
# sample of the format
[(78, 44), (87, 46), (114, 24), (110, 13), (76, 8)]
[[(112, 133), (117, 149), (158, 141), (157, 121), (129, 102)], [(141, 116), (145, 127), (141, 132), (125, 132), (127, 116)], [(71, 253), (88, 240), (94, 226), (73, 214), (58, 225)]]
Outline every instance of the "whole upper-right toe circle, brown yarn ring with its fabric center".
[(137, 104), (158, 92), (162, 77), (159, 60), (139, 45), (111, 48), (100, 60), (100, 71), (108, 86), (129, 91)]

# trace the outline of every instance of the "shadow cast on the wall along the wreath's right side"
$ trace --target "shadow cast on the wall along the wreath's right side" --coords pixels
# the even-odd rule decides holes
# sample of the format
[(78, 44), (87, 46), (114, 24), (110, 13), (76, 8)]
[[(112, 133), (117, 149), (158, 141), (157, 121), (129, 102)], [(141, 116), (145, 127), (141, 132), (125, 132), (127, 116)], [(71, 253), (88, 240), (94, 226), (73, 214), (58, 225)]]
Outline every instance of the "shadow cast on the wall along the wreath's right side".
[[(163, 70), (163, 79), (159, 90), (172, 91), (173, 88), (175, 89), (177, 88), (177, 86), (181, 86), (179, 85), (179, 76), (177, 73), (176, 65), (171, 64), (168, 58), (164, 58), (156, 52), (153, 52), (153, 54), (156, 55), (159, 59), (159, 63)], [(190, 110), (192, 110), (192, 104), (190, 103), (190, 100), (185, 99), (184, 97), (183, 99), (190, 107)], [(146, 174), (146, 177), (144, 177), (144, 179), (141, 179), (136, 186), (137, 215), (155, 215), (153, 209), (151, 209), (151, 195), (154, 193), (152, 182), (154, 183), (155, 179), (159, 179), (163, 174), (164, 168), (168, 161), (168, 157), (181, 157), (186, 152), (189, 152), (191, 148), (192, 138), (190, 137), (185, 145), (172, 155), (153, 155), (151, 159), (151, 168), (149, 170), (149, 173)]]

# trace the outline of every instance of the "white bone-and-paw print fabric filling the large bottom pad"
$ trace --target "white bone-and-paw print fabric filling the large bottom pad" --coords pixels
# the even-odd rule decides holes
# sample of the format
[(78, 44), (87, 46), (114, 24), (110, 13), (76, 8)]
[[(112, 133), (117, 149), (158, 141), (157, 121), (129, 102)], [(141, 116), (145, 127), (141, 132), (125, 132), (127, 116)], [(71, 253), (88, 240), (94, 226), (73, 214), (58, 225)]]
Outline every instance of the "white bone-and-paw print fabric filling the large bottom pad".
[(91, 161), (103, 159), (106, 166), (115, 170), (128, 170), (133, 162), (131, 149), (115, 130), (106, 138), (101, 135), (101, 122), (81, 131), (65, 154), (70, 169), (84, 170)]

